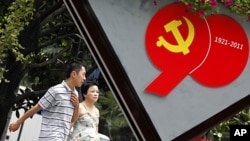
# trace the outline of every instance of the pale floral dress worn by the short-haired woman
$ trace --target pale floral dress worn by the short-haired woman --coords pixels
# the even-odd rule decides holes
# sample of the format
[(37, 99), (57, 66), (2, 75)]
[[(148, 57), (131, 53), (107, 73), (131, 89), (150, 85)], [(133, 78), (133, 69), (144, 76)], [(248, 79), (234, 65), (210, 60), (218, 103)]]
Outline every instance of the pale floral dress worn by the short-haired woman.
[(73, 132), (68, 141), (100, 141), (97, 127), (99, 116), (92, 116), (89, 112), (81, 115), (74, 124)]

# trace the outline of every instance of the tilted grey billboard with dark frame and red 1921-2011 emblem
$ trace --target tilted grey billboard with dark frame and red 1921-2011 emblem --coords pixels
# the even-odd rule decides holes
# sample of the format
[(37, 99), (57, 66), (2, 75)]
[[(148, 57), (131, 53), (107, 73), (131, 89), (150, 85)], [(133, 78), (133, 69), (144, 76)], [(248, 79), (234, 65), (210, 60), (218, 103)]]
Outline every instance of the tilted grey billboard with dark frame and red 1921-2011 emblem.
[(189, 140), (249, 106), (248, 23), (175, 1), (64, 0), (138, 140)]

